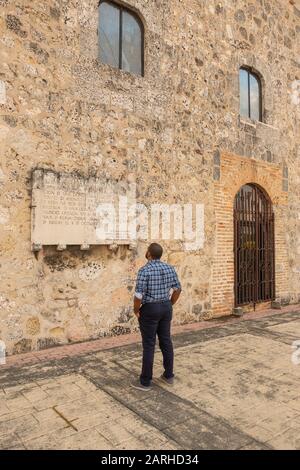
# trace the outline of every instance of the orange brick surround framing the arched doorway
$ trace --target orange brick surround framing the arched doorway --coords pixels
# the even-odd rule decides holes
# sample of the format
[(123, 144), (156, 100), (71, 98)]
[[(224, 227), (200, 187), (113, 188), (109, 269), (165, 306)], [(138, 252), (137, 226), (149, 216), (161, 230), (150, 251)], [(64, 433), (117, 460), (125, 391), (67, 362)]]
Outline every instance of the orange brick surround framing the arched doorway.
[[(214, 316), (230, 314), (234, 307), (234, 233), (233, 207), (239, 189), (245, 184), (260, 186), (269, 196), (275, 210), (275, 244), (281, 266), (288, 263), (284, 240), (282, 211), (287, 195), (282, 191), (282, 168), (253, 158), (222, 153), (220, 179), (214, 184), (214, 214), (216, 221), (215, 250), (212, 266), (212, 310)], [(284, 271), (284, 270), (283, 270)], [(276, 273), (277, 292), (284, 292), (286, 279)]]

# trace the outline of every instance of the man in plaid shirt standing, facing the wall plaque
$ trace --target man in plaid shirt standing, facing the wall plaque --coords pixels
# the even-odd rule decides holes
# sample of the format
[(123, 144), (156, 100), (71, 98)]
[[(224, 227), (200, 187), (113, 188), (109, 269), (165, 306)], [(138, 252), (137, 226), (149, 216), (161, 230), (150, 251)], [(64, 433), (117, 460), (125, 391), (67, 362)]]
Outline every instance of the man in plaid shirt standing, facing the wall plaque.
[(140, 380), (131, 385), (143, 391), (151, 390), (156, 335), (165, 369), (160, 379), (169, 385), (174, 380), (171, 320), (181, 285), (173, 266), (160, 260), (162, 254), (163, 249), (158, 243), (148, 247), (148, 263), (138, 272), (134, 294), (134, 313), (139, 321), (143, 343), (143, 366)]

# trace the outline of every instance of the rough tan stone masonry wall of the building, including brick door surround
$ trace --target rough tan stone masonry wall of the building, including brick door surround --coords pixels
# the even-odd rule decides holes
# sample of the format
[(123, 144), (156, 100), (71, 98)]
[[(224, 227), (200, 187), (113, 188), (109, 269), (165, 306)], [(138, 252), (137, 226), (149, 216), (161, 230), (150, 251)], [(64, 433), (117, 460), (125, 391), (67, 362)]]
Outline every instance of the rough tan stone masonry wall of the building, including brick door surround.
[[(175, 321), (228, 315), (233, 201), (256, 183), (275, 213), (276, 297), (300, 301), (300, 5), (297, 0), (126, 0), (145, 28), (145, 74), (98, 59), (98, 0), (0, 0), (0, 339), (9, 354), (136, 328), (147, 241), (31, 244), (32, 174), (127, 181), (143, 204), (201, 203), (204, 248), (162, 241), (183, 294)], [(239, 115), (239, 69), (263, 119)]]

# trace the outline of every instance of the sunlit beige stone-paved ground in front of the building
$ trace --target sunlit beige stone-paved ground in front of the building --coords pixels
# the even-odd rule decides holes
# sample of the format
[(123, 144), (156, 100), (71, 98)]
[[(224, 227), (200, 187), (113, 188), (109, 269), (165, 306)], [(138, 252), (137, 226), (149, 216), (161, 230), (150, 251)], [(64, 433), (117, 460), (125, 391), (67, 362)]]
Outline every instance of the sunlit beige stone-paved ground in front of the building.
[(0, 449), (300, 449), (300, 306), (176, 331), (176, 383), (146, 394), (138, 336), (9, 358)]

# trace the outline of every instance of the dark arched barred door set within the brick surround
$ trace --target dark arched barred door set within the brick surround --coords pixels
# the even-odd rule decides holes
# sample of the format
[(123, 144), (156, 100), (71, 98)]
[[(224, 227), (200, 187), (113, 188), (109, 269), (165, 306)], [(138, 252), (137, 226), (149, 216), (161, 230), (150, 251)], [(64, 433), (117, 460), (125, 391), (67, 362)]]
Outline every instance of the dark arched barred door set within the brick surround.
[(275, 298), (274, 213), (269, 196), (243, 186), (234, 203), (235, 306)]

